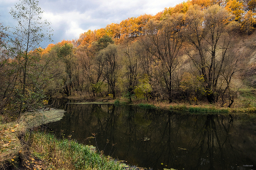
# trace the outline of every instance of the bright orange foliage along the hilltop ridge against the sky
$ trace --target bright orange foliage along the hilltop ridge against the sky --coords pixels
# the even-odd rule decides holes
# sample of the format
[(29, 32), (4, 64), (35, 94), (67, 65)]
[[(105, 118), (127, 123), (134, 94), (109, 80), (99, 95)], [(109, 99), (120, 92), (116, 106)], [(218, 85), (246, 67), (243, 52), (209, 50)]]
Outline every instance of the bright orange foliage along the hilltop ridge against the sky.
[[(252, 1), (252, 2), (251, 2)], [(255, 8), (256, 0), (251, 0), (250, 8)], [(245, 2), (244, 2), (245, 3)], [(122, 20), (121, 23), (110, 23), (105, 28), (99, 28), (94, 31), (86, 31), (83, 34), (80, 34), (80, 37), (77, 41), (66, 41), (63, 40), (59, 42), (61, 45), (65, 43), (72, 43), (75, 47), (87, 46), (91, 47), (92, 42), (97, 42), (102, 36), (110, 36), (116, 44), (119, 44), (124, 41), (126, 38), (137, 38), (142, 35), (143, 27), (146, 26), (148, 20), (154, 18), (155, 20), (162, 20), (165, 15), (173, 15), (175, 13), (186, 13), (189, 7), (197, 4), (201, 9), (206, 9), (213, 4), (219, 4), (222, 7), (226, 6), (225, 0), (187, 0), (180, 4), (177, 4), (175, 7), (165, 8), (162, 12), (158, 12), (157, 15), (140, 15), (138, 18), (127, 18)], [(226, 9), (236, 15), (236, 20), (241, 20), (241, 14), (244, 13), (244, 6), (242, 2), (238, 0), (227, 1)], [(46, 52), (45, 52), (46, 53)]]

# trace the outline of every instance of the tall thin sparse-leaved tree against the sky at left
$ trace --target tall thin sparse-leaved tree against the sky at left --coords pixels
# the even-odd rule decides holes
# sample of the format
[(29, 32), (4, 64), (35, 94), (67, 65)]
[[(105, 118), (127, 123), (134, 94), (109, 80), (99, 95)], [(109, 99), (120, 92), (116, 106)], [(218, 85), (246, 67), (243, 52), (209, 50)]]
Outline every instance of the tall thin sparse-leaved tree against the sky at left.
[[(24, 96), (28, 85), (28, 64), (31, 55), (30, 50), (34, 50), (39, 43), (45, 39), (50, 39), (50, 23), (42, 20), (42, 9), (38, 7), (38, 1), (20, 0), (19, 4), (15, 4), (15, 8), (10, 10), (12, 17), (18, 21), (18, 27), (13, 32), (12, 42), (15, 44), (17, 59), (20, 64), (21, 75), (21, 91), (20, 91), (20, 108), (19, 114), (25, 108)], [(33, 87), (34, 88), (34, 87)], [(23, 104), (24, 103), (24, 104)]]

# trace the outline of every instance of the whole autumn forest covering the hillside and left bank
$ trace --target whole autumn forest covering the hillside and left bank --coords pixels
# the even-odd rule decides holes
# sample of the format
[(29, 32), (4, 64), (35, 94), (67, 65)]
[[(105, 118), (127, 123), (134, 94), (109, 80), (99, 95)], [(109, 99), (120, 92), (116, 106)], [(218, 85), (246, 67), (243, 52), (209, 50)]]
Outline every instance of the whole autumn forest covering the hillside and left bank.
[(54, 96), (233, 107), (244, 82), (256, 86), (256, 0), (184, 1), (45, 49), (50, 25), (37, 2), (23, 5), (10, 12), (17, 31), (0, 27), (0, 114), (17, 117)]

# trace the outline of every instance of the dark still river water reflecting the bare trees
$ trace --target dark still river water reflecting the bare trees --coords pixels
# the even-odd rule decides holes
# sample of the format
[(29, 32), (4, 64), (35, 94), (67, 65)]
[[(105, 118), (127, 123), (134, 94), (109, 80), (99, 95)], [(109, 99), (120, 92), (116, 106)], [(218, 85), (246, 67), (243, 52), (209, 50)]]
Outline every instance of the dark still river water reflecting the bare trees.
[(127, 164), (147, 169), (256, 169), (256, 122), (246, 115), (195, 115), (113, 104), (62, 104), (62, 109), (67, 110), (63, 119), (48, 124), (56, 136), (72, 135)]

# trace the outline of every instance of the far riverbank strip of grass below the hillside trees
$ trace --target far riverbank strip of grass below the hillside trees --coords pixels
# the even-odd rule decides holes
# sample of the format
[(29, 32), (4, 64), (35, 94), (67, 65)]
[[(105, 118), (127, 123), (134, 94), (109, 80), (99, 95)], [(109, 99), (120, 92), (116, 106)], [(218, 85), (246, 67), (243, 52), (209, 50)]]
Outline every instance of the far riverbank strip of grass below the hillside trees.
[[(59, 98), (61, 98), (59, 96)], [(187, 102), (173, 102), (169, 103), (168, 101), (155, 101), (155, 100), (143, 100), (143, 99), (134, 99), (130, 103), (126, 98), (87, 98), (85, 96), (69, 96), (65, 97), (69, 100), (80, 101), (80, 102), (97, 102), (97, 103), (110, 103), (110, 104), (132, 104), (143, 107), (152, 107), (152, 108), (160, 108), (160, 109), (170, 109), (173, 111), (185, 111), (191, 113), (256, 113), (256, 107), (254, 102), (250, 101), (250, 104), (246, 104), (247, 101), (244, 101), (244, 98), (237, 98), (234, 102), (233, 107), (228, 108), (227, 104), (225, 107), (221, 107), (220, 104), (209, 104), (208, 102), (197, 101), (197, 104), (189, 104)]]

